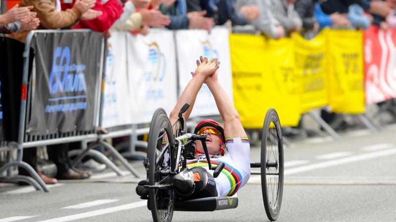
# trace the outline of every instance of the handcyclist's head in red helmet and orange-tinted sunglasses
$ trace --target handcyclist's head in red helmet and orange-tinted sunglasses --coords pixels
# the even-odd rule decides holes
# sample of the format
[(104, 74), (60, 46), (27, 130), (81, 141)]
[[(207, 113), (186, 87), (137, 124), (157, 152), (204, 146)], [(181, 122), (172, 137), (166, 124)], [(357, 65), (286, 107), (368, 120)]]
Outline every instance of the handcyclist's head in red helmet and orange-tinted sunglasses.
[[(195, 134), (206, 134), (206, 147), (209, 154), (213, 155), (224, 155), (226, 148), (224, 128), (223, 126), (212, 120), (205, 119), (198, 123), (194, 130)], [(200, 141), (196, 142), (196, 152), (204, 153), (203, 147)]]

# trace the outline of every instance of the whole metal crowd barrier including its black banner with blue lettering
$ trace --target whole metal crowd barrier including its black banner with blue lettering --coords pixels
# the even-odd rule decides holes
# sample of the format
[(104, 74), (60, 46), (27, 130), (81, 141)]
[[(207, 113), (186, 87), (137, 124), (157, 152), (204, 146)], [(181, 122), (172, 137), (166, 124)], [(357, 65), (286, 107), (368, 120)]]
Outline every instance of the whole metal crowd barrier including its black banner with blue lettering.
[[(96, 130), (103, 104), (100, 85), (104, 43), (102, 34), (89, 30), (33, 31), (28, 35), (23, 53), (18, 135), (15, 142), (8, 144), (8, 147), (15, 146), (18, 154), (16, 160), (12, 160), (9, 152), (7, 164), (0, 168), (0, 173), (12, 166), (19, 166), (25, 168), (37, 182), (10, 173), (7, 180), (23, 180), (36, 189), (41, 187), (49, 191), (33, 168), (22, 161), (23, 148), (71, 142), (84, 145), (91, 141), (97, 143), (81, 151), (73, 165), (89, 154), (121, 175), (121, 171), (103, 154), (91, 150), (100, 144), (132, 174), (139, 176), (112, 146), (101, 141), (100, 132)], [(33, 74), (29, 75), (31, 45), (36, 55)], [(79, 154), (76, 151), (73, 153)]]

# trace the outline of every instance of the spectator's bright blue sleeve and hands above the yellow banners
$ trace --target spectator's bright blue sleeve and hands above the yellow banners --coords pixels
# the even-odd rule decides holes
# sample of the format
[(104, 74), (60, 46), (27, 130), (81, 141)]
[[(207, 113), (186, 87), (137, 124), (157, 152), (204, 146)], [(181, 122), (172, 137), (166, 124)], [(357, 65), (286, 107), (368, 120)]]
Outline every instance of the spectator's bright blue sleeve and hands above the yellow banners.
[(335, 26), (335, 27), (350, 26), (350, 22), (347, 19), (347, 14), (340, 14), (338, 12), (334, 12), (331, 15), (328, 15), (323, 12), (319, 2), (315, 3), (314, 17), (316, 21), (319, 23), (321, 29), (323, 29), (326, 26)]

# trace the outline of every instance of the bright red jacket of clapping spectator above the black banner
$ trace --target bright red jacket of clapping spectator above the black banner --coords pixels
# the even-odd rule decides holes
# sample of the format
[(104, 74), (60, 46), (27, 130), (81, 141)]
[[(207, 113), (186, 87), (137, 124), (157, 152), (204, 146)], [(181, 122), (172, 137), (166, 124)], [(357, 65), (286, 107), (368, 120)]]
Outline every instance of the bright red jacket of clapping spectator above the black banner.
[[(62, 10), (72, 8), (73, 5), (74, 1), (73, 3), (61, 3)], [(103, 14), (94, 20), (80, 20), (79, 24), (74, 26), (73, 29), (92, 29), (96, 32), (105, 33), (124, 12), (118, 0), (108, 0), (104, 4), (97, 0), (92, 9), (102, 11)]]

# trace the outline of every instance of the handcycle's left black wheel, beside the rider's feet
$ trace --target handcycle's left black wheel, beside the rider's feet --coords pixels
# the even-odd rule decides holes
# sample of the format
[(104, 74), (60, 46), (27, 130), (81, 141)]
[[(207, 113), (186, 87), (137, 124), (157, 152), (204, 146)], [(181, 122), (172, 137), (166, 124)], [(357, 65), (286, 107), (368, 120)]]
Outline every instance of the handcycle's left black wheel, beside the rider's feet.
[(148, 198), (154, 222), (170, 222), (173, 216), (175, 193), (172, 189), (173, 175), (166, 174), (175, 169), (174, 137), (169, 118), (163, 109), (157, 109), (151, 119), (148, 133)]

